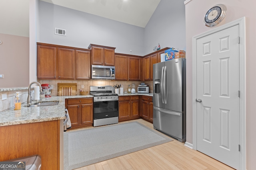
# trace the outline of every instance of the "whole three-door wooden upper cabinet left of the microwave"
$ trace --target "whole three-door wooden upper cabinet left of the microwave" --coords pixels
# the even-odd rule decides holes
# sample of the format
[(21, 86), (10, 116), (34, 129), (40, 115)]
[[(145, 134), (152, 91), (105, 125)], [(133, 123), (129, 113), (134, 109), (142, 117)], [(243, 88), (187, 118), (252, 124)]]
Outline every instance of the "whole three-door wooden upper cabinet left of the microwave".
[(38, 79), (90, 79), (91, 50), (37, 43)]

